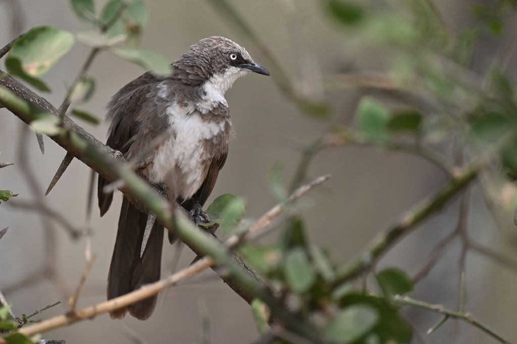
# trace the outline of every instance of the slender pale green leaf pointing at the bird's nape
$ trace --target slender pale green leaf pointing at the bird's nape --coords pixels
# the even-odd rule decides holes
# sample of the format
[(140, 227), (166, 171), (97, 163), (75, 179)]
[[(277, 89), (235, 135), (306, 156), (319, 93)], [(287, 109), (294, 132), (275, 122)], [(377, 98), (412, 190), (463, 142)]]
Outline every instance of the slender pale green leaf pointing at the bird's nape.
[(171, 74), (171, 65), (169, 59), (155, 52), (138, 49), (120, 49), (111, 48), (110, 50), (118, 57), (131, 61), (141, 67), (150, 70), (151, 73), (158, 76)]

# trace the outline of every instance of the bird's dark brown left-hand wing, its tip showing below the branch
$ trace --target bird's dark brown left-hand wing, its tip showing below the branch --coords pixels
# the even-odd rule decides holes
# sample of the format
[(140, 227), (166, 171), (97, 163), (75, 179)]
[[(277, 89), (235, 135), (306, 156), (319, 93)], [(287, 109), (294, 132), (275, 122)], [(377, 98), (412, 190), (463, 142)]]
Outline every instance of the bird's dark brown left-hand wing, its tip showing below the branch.
[[(107, 120), (111, 121), (108, 141), (106, 144), (120, 151), (125, 156), (135, 141), (135, 136), (141, 132), (141, 112), (146, 109), (150, 98), (156, 94), (160, 79), (147, 72), (121, 88), (111, 99), (108, 105)], [(100, 216), (110, 208), (113, 192), (103, 192), (108, 184), (99, 176), (97, 197), (99, 199)]]

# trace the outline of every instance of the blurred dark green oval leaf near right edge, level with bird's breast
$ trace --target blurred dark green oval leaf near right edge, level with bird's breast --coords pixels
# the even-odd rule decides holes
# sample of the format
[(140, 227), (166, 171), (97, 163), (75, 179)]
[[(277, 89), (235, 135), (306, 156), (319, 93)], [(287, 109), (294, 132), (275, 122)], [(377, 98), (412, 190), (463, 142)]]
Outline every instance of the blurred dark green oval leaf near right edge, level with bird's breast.
[(470, 121), (470, 131), (476, 138), (491, 143), (507, 133), (511, 125), (511, 121), (502, 113), (481, 111)]

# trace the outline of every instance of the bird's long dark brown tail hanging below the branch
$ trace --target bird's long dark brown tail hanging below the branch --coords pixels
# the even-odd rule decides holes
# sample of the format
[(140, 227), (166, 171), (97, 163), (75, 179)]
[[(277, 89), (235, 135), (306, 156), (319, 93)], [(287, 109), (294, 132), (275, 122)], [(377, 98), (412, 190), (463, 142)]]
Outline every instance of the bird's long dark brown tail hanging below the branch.
[[(160, 279), (163, 226), (158, 222), (155, 223), (141, 258), (140, 249), (146, 222), (147, 215), (136, 209), (124, 197), (108, 275), (108, 299), (116, 298)], [(129, 311), (133, 317), (145, 320), (153, 313), (156, 300), (156, 296), (145, 299), (110, 312), (110, 316), (113, 319), (121, 319)]]

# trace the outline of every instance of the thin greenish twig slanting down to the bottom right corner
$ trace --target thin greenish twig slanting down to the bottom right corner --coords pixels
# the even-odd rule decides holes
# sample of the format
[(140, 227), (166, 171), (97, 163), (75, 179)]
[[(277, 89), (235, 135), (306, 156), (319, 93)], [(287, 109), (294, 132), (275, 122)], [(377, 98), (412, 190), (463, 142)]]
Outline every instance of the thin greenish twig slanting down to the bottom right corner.
[(433, 304), (423, 302), (420, 300), (411, 299), (407, 296), (396, 295), (393, 297), (393, 301), (400, 305), (408, 305), (408, 306), (414, 306), (414, 307), (418, 307), (418, 308), (422, 308), (422, 309), (427, 309), (427, 310), (431, 310), (432, 312), (436, 312), (439, 314), (449, 316), (449, 318), (463, 320), (463, 321), (477, 327), (478, 329), (480, 329), (484, 333), (490, 335), (491, 337), (498, 340), (499, 342), (505, 343), (505, 344), (511, 344), (509, 340), (507, 340), (507, 339), (503, 338), (502, 336), (500, 336), (499, 334), (497, 334), (488, 325), (480, 322), (479, 320), (474, 318), (469, 313), (455, 312), (454, 310), (449, 310), (449, 309), (444, 308), (444, 306), (442, 306), (442, 305), (433, 305)]

